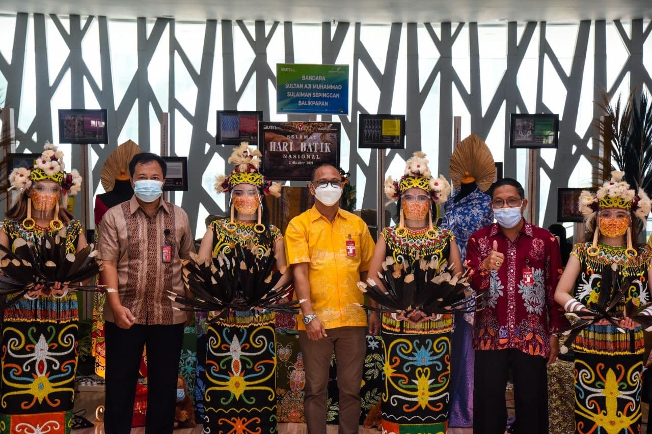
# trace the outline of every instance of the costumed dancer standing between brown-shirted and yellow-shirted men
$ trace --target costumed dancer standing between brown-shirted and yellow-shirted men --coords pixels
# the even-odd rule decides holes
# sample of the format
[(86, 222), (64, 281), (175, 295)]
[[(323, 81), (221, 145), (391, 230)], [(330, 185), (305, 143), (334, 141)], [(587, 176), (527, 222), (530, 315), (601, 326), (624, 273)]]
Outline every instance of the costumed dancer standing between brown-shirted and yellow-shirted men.
[[(253, 267), (254, 264), (248, 262), (257, 260), (268, 261), (266, 263), (271, 265), (269, 259), (273, 261), (275, 258), (279, 270), (284, 271), (286, 268), (283, 237), (277, 227), (263, 223), (267, 212), (261, 201), (267, 194), (278, 197), (280, 186), (275, 182), (266, 181), (259, 173), (260, 155), (259, 151), (250, 149), (246, 142), (233, 150), (228, 162), (233, 163), (235, 168), (227, 177), (217, 177), (215, 182), (215, 190), (218, 193), (231, 193), (231, 216), (215, 220), (209, 225), (197, 257), (197, 263), (209, 261), (220, 273), (228, 267), (236, 268), (232, 270), (235, 277), (230, 280), (233, 287), (252, 292), (254, 288), (245, 286), (260, 287), (264, 282), (245, 278), (243, 272), (246, 270), (240, 270), (240, 267)], [(250, 255), (251, 252), (253, 255)], [(254, 259), (254, 256), (257, 259)], [(215, 265), (216, 262), (218, 265)], [(186, 265), (186, 272), (200, 276), (196, 265), (190, 265), (190, 268)], [(278, 278), (277, 273), (274, 279)], [(245, 274), (251, 276), (249, 272)], [(275, 290), (283, 288), (289, 276), (289, 272), (281, 276), (267, 297), (278, 298), (276, 296), (280, 293)], [(215, 278), (218, 279), (218, 276)], [(238, 279), (248, 279), (248, 282), (235, 282)], [(203, 285), (201, 278), (198, 283)], [(226, 290), (224, 286), (226, 285), (221, 288), (223, 291)], [(202, 298), (201, 289), (194, 291), (192, 285), (189, 289), (196, 298)], [(215, 300), (207, 294), (205, 296), (203, 298)], [(238, 297), (247, 298), (242, 293), (224, 294), (218, 298), (222, 302), (230, 302), (231, 300), (225, 299)], [(196, 310), (202, 310), (208, 306), (203, 302), (209, 302), (200, 300), (193, 303), (192, 300), (184, 301), (178, 297), (176, 300), (194, 306)], [(241, 303), (245, 301), (243, 299)], [(209, 313), (207, 346), (198, 347), (198, 353), (200, 351), (205, 352), (203, 373), (200, 369), (200, 380), (205, 388), (203, 432), (277, 432), (274, 311), (261, 308), (224, 308), (222, 311)], [(202, 360), (203, 356), (198, 356), (198, 359)]]

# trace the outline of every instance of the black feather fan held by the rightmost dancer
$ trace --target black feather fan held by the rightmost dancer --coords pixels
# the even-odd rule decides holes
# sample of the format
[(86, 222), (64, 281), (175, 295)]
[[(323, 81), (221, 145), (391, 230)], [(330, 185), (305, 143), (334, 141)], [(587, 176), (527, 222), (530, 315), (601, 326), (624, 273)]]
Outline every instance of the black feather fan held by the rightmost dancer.
[[(632, 303), (632, 300), (627, 302), (623, 313), (618, 312), (616, 307), (625, 297), (625, 290), (629, 288), (631, 280), (632, 278), (626, 277), (622, 283), (618, 283), (618, 268), (616, 264), (602, 267), (598, 300), (586, 306), (589, 309), (588, 311), (576, 310), (566, 313), (567, 317), (577, 319), (577, 321), (573, 325), (559, 330), (559, 334), (568, 336), (564, 345), (559, 349), (562, 354), (568, 352), (573, 341), (584, 328), (602, 319), (606, 319), (619, 332), (625, 333), (625, 329), (616, 321), (623, 319), (623, 317), (632, 317), (636, 313), (636, 307)], [(640, 317), (645, 317), (645, 315), (636, 315), (632, 319), (642, 323)], [(650, 325), (652, 325), (652, 318), (647, 317), (646, 321), (649, 321)]]

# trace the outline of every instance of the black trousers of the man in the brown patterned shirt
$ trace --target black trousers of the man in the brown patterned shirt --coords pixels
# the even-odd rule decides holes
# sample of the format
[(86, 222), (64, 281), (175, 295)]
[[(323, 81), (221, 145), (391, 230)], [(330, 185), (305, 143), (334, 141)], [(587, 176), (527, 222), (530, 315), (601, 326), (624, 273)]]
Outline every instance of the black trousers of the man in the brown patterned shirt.
[(134, 324), (125, 330), (106, 321), (106, 434), (131, 432), (138, 368), (144, 346), (147, 346), (145, 432), (172, 432), (183, 328), (183, 324)]

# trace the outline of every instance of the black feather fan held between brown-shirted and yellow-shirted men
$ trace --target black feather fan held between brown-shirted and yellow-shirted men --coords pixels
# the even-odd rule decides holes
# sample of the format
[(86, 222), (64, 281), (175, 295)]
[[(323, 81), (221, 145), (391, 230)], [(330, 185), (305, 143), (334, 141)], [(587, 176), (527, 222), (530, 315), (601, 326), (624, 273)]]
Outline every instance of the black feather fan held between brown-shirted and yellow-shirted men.
[(299, 312), (303, 300), (282, 301), (291, 291), (289, 282), (277, 287), (286, 272), (274, 270), (276, 258), (271, 250), (258, 256), (258, 246), (237, 244), (233, 255), (220, 253), (202, 261), (191, 253), (183, 265), (183, 279), (194, 298), (172, 293), (170, 300), (184, 304), (185, 311), (220, 311), (211, 321), (225, 318), (230, 310), (248, 311), (261, 308), (279, 313)]

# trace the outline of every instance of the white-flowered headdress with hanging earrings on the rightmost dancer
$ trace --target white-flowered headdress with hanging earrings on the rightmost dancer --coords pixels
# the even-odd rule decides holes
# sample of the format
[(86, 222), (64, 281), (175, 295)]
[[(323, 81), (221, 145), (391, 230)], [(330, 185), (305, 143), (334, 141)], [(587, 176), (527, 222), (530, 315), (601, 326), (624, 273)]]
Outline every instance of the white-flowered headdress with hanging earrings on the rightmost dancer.
[[(593, 246), (589, 248), (588, 252), (591, 256), (597, 255), (600, 251), (597, 247), (599, 229), (595, 224), (600, 209), (618, 208), (627, 210), (645, 223), (647, 214), (652, 208), (652, 202), (642, 188), (638, 188), (638, 192), (636, 192), (633, 188), (630, 188), (627, 181), (623, 181), (624, 172), (614, 170), (611, 175), (611, 179), (604, 182), (595, 194), (587, 190), (583, 190), (580, 194), (579, 207), (580, 212), (584, 215), (586, 227), (589, 230), (595, 229)], [(637, 254), (636, 250), (632, 248), (630, 229), (627, 229), (627, 254), (632, 257)]]

